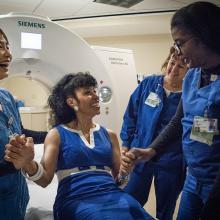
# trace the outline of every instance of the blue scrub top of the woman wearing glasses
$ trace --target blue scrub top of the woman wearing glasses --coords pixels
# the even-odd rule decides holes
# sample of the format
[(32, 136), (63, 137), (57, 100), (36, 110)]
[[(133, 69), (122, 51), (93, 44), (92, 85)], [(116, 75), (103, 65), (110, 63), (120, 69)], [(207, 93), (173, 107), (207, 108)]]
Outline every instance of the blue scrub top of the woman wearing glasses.
[(220, 75), (209, 85), (200, 88), (201, 69), (190, 69), (183, 83), (183, 152), (189, 172), (198, 181), (213, 184), (220, 168), (220, 135), (211, 146), (192, 140), (190, 133), (195, 116), (218, 119), (220, 130)]

